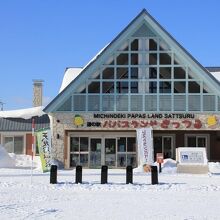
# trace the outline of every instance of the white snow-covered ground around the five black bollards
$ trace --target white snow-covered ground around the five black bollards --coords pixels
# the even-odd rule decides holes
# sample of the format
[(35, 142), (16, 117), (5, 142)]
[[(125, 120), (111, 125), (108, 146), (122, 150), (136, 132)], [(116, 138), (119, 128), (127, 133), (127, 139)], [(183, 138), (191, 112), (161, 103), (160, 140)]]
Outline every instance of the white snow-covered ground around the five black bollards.
[[(49, 184), (49, 173), (39, 168), (31, 184), (30, 158), (14, 159), (14, 168), (0, 168), (1, 220), (220, 219), (220, 175), (177, 174), (171, 160), (158, 185), (137, 169), (134, 184), (126, 185), (125, 170), (117, 169), (109, 170), (108, 184), (101, 185), (99, 169), (83, 169), (83, 184), (74, 183), (75, 170), (59, 170), (58, 184)], [(218, 163), (211, 167), (219, 172)]]

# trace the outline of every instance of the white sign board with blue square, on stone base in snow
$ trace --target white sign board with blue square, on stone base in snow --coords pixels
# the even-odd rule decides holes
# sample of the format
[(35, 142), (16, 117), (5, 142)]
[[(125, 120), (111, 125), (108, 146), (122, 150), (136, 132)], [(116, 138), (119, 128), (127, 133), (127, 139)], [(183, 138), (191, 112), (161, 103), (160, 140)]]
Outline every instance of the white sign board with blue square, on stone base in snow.
[(181, 165), (206, 165), (206, 149), (203, 147), (177, 148), (177, 161)]

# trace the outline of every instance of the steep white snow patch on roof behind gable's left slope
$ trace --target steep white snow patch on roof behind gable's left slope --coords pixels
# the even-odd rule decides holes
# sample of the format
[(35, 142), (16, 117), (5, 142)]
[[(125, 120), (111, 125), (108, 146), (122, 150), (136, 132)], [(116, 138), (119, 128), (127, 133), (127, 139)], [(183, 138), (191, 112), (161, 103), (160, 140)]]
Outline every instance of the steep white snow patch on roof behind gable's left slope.
[(59, 93), (62, 92), (82, 71), (82, 68), (67, 68), (63, 81), (59, 90)]

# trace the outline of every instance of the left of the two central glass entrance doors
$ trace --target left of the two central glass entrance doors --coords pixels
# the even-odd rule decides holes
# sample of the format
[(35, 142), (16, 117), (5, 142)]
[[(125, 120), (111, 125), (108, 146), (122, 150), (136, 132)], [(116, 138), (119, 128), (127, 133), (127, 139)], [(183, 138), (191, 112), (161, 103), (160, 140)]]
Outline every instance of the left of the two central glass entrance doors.
[(99, 168), (101, 167), (101, 138), (90, 138), (90, 167)]

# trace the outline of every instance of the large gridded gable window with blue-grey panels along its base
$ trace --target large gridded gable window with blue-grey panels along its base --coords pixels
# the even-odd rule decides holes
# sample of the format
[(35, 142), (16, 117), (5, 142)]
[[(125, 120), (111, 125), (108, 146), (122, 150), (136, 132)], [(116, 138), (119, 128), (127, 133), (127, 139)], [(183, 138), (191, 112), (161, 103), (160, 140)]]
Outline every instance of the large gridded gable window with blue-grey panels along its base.
[[(142, 36), (142, 31), (150, 29), (141, 29), (140, 35), (132, 35), (106, 60), (101, 59), (101, 65), (76, 85), (73, 98), (60, 103), (57, 111), (217, 112), (218, 95), (200, 79), (200, 72), (160, 36)], [(81, 93), (85, 96), (79, 96)]]

